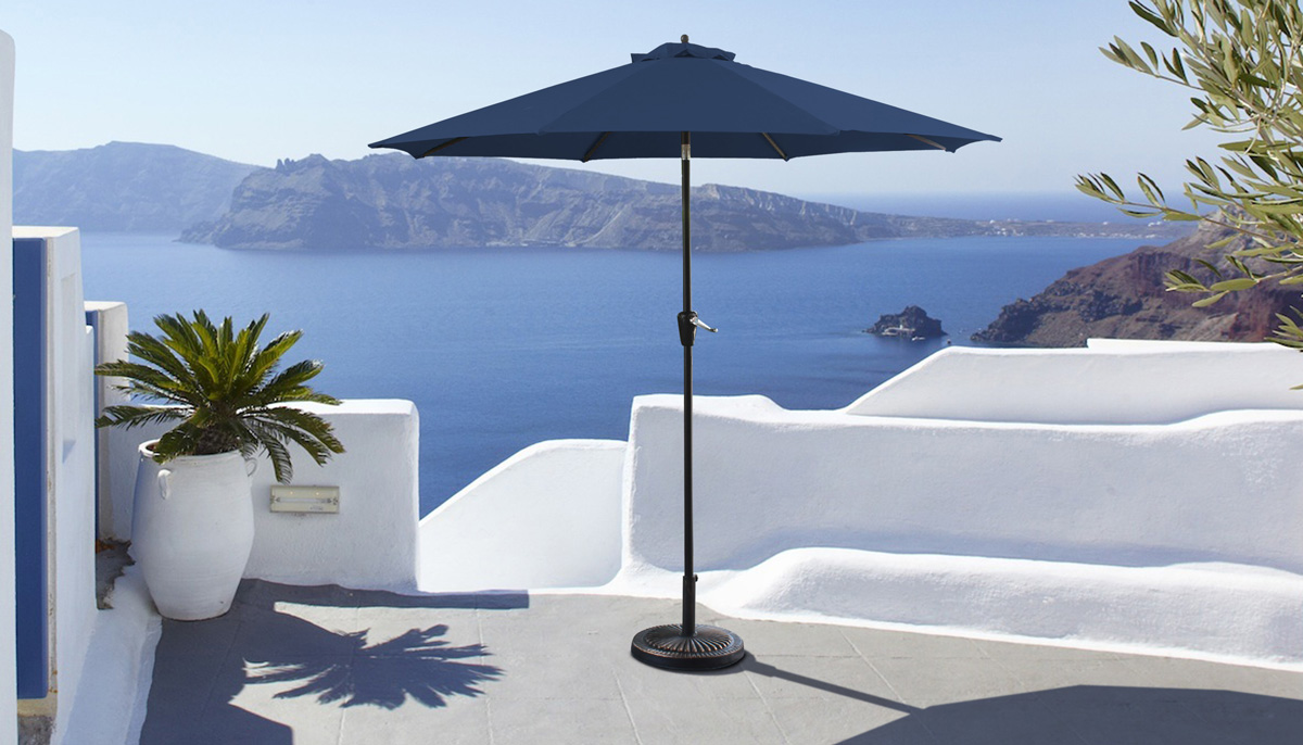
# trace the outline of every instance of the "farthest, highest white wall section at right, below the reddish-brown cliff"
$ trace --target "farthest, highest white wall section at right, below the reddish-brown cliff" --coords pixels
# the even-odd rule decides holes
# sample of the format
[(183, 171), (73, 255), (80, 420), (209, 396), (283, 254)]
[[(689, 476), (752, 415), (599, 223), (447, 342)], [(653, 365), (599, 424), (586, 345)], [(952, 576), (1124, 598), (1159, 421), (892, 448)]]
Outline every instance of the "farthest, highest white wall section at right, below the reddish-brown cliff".
[(1092, 340), (1085, 349), (950, 346), (848, 414), (984, 422), (1166, 423), (1233, 409), (1303, 409), (1303, 357), (1277, 344)]

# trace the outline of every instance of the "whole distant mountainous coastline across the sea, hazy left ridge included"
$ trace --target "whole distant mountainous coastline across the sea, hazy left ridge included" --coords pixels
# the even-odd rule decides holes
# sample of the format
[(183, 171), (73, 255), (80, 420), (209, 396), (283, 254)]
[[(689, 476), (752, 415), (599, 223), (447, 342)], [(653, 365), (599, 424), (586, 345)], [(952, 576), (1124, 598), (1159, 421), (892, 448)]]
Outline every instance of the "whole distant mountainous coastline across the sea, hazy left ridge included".
[[(702, 251), (889, 238), (1170, 238), (1173, 225), (956, 220), (857, 211), (736, 186), (693, 190)], [(14, 152), (14, 220), (175, 232), (228, 249), (420, 250), (482, 246), (679, 249), (679, 188), (500, 159), (311, 155), (275, 168), (168, 145), (111, 142)]]

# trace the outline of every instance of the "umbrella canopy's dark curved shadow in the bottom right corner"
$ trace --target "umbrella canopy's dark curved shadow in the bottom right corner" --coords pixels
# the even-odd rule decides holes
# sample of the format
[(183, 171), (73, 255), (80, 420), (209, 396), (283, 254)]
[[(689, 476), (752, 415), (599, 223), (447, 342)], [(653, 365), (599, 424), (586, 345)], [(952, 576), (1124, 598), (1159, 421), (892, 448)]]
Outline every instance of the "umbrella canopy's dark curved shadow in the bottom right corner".
[(1293, 745), (1303, 701), (1230, 690), (1075, 685), (916, 710), (842, 745)]

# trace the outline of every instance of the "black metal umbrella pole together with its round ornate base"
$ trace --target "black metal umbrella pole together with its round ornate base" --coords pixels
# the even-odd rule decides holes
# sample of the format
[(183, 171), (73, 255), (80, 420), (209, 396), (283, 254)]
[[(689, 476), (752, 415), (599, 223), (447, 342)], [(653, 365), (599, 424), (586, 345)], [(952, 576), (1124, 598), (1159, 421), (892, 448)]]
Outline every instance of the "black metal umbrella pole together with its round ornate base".
[[(691, 138), (683, 133), (683, 623), (642, 629), (633, 637), (635, 659), (678, 671), (719, 669), (745, 656), (741, 638), (719, 626), (697, 625), (697, 576), (692, 557), (692, 344), (697, 314), (692, 310)], [(711, 330), (714, 331), (714, 330)]]

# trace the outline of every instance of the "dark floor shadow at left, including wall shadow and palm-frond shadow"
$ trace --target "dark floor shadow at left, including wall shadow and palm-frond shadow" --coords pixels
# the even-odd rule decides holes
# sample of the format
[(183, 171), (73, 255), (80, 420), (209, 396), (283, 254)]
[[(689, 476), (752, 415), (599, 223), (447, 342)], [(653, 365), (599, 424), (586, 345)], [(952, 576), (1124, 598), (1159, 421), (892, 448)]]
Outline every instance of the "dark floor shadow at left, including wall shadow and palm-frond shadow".
[[(175, 742), (289, 744), (289, 727), (235, 703), (250, 685), (291, 684), (272, 698), (318, 705), (427, 707), (480, 696), (503, 671), (485, 664), (478, 643), (452, 646), (448, 625), (413, 628), (369, 645), (366, 632), (335, 633), (276, 611), (278, 603), (337, 608), (526, 608), (524, 593), (399, 595), (337, 586), (296, 587), (246, 581), (231, 612), (208, 621), (163, 621), (142, 745)], [(470, 623), (474, 623), (473, 620)]]

